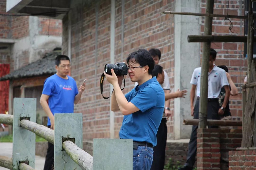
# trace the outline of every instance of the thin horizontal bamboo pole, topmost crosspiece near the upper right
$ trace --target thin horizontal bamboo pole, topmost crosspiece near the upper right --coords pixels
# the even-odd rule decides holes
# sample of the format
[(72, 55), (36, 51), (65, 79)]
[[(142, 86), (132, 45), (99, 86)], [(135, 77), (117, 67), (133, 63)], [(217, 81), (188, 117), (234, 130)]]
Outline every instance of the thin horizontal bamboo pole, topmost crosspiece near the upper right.
[(162, 14), (173, 14), (173, 15), (193, 15), (193, 16), (202, 16), (202, 17), (220, 17), (220, 18), (237, 18), (237, 19), (248, 19), (247, 16), (239, 15), (223, 15), (223, 14), (202, 14), (195, 12), (173, 12), (173, 11), (163, 11)]

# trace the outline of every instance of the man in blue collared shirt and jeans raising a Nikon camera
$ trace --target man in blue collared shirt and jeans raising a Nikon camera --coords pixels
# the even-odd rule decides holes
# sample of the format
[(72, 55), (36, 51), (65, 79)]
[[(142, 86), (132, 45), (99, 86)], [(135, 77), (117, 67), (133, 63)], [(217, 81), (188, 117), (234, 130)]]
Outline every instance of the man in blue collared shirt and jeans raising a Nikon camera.
[(138, 85), (124, 95), (121, 90), (123, 76), (117, 77), (113, 69), (112, 75), (104, 73), (114, 87), (111, 110), (124, 115), (120, 138), (133, 139), (133, 169), (150, 169), (156, 133), (164, 112), (164, 90), (151, 75), (155, 62), (146, 49), (129, 54), (126, 62), (131, 81)]

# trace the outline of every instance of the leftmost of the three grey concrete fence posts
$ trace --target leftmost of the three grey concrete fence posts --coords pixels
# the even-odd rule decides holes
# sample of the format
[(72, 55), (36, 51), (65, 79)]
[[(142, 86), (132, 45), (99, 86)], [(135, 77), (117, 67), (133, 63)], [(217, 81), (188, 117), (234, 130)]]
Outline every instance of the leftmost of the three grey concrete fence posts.
[(20, 163), (35, 168), (36, 135), (20, 126), (23, 119), (36, 122), (36, 98), (13, 99), (13, 170)]

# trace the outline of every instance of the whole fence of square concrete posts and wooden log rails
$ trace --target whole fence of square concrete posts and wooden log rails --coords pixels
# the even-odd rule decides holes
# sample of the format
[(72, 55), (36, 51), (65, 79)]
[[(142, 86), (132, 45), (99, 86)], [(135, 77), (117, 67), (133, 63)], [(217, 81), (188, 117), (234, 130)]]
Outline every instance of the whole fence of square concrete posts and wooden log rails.
[(0, 167), (35, 170), (35, 136), (38, 135), (54, 144), (55, 170), (110, 170), (113, 165), (132, 170), (132, 139), (93, 139), (96, 161), (93, 164), (93, 156), (82, 149), (82, 113), (55, 114), (53, 130), (35, 123), (35, 98), (14, 98), (13, 103), (13, 115), (0, 114), (0, 123), (13, 126), (12, 158), (0, 155)]

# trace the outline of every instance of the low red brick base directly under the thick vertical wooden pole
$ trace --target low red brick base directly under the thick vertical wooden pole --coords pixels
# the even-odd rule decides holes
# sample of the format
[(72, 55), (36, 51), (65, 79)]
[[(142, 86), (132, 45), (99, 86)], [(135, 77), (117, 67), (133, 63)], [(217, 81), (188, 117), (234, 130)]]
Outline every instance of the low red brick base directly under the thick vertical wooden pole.
[(241, 147), (241, 129), (197, 129), (197, 169), (228, 169), (228, 152)]

